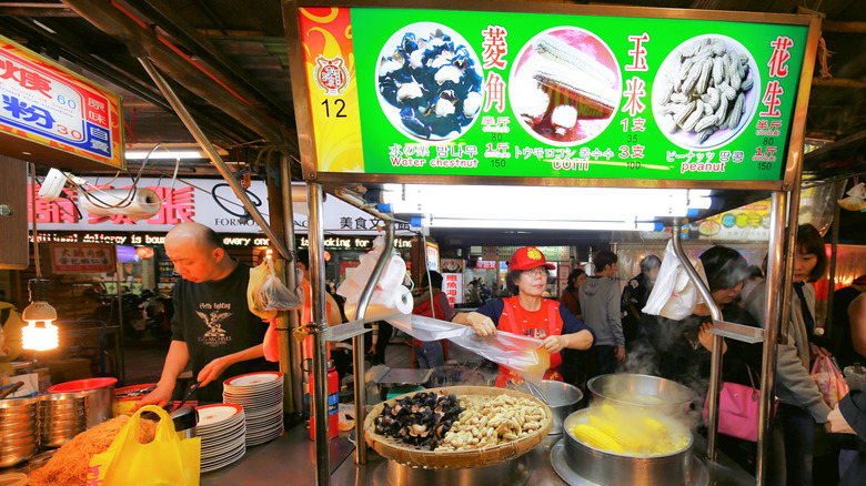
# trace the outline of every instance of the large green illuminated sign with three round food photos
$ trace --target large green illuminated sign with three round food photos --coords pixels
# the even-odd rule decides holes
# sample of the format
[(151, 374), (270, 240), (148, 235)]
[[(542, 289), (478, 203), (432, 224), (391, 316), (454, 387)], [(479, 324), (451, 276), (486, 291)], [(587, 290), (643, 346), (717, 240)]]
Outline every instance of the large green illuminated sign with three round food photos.
[(305, 4), (311, 152), (325, 176), (777, 189), (802, 155), (812, 17)]

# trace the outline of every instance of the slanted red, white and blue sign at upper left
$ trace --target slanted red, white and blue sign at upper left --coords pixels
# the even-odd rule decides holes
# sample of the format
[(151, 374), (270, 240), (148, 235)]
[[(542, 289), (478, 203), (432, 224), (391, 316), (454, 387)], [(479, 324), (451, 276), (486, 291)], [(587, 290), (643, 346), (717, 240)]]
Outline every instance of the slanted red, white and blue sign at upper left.
[(0, 153), (53, 166), (124, 169), (121, 100), (0, 36)]

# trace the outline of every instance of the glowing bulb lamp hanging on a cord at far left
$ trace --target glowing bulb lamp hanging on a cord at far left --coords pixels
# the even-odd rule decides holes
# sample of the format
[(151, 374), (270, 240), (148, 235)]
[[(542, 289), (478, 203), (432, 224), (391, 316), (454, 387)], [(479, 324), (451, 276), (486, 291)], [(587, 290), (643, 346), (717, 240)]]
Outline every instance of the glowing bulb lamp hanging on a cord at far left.
[[(52, 323), (57, 321), (57, 311), (48, 303), (48, 281), (42, 279), (42, 269), (39, 264), (39, 232), (37, 231), (36, 214), (36, 164), (30, 164), (30, 192), (33, 211), (33, 261), (37, 276), (30, 279), (30, 305), (24, 307), (21, 318), (27, 321), (22, 330), (22, 345), (24, 350), (48, 351), (59, 344), (58, 328)], [(40, 325), (41, 324), (41, 325)]]

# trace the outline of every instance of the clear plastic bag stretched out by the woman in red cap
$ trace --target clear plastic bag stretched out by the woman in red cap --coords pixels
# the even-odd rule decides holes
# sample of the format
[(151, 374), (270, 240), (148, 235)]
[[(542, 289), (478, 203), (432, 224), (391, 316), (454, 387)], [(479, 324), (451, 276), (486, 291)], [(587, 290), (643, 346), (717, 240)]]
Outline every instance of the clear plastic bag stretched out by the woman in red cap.
[(550, 366), (550, 355), (542, 347), (541, 340), (503, 331), (497, 331), (493, 336), (481, 337), (471, 326), (415, 314), (397, 315), (387, 322), (419, 341), (449, 340), (479, 356), (511, 368), (532, 382), (541, 381)]

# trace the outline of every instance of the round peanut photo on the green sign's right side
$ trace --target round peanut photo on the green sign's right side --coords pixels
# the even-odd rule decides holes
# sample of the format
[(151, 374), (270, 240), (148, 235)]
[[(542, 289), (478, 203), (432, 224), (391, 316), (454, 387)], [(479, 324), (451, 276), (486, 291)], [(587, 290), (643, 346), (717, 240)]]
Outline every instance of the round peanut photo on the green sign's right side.
[(662, 62), (653, 83), (653, 114), (678, 146), (716, 149), (748, 125), (759, 90), (755, 59), (743, 44), (725, 36), (698, 36)]

